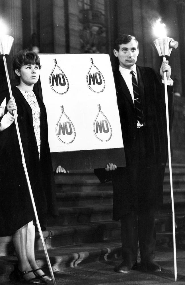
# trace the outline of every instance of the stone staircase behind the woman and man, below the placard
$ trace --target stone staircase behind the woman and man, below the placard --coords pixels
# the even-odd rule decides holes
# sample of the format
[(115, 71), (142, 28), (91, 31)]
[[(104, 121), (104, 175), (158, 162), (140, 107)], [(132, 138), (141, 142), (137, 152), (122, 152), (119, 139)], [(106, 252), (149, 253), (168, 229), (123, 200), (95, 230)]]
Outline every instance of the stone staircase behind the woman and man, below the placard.
[[(173, 192), (178, 229), (185, 213), (185, 165), (173, 164)], [(43, 232), (54, 271), (79, 262), (120, 256), (120, 222), (112, 221), (112, 184), (100, 184), (93, 170), (56, 174), (59, 217), (51, 219)], [(157, 245), (172, 241), (172, 211), (169, 169), (164, 179), (164, 207), (156, 215)], [(38, 264), (46, 266), (38, 233), (35, 239)], [(0, 237), (0, 284), (9, 280), (17, 258), (11, 237)]]

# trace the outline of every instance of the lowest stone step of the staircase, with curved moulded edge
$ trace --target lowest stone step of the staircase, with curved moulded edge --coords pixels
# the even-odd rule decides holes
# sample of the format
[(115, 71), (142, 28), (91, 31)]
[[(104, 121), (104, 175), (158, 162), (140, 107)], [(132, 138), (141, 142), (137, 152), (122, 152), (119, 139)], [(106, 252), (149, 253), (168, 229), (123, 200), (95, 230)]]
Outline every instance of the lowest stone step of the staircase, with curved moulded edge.
[[(157, 234), (157, 245), (168, 244), (172, 239), (171, 233)], [(121, 255), (120, 239), (114, 241), (103, 241), (97, 243), (83, 243), (79, 245), (66, 245), (48, 249), (48, 255), (54, 272), (67, 267), (76, 267), (78, 264), (89, 263), (98, 260)], [(43, 250), (35, 251), (36, 262), (39, 267), (46, 267), (44, 272), (49, 273), (46, 258)], [(16, 255), (0, 257), (0, 284), (9, 281), (9, 274), (17, 263)]]

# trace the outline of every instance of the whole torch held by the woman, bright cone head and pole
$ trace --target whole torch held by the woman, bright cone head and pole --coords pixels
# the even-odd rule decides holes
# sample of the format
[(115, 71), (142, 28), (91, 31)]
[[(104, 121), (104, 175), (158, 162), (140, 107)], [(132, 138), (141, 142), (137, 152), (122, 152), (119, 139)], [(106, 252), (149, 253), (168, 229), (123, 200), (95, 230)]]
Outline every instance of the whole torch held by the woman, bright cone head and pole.
[[(9, 56), (11, 47), (13, 45), (13, 41), (14, 41), (14, 38), (12, 36), (8, 36), (8, 35), (1, 35), (0, 36), (0, 56), (1, 56), (1, 58), (3, 57), (3, 62), (4, 62), (4, 66), (5, 66), (5, 73), (6, 73), (8, 89), (9, 89), (11, 100), (13, 100), (13, 95), (12, 95), (12, 90), (11, 90), (9, 74), (8, 74), (6, 57)], [(27, 184), (28, 184), (28, 190), (29, 190), (30, 198), (31, 198), (32, 205), (33, 205), (34, 215), (35, 215), (35, 218), (36, 218), (36, 223), (37, 223), (40, 239), (42, 241), (44, 253), (45, 253), (45, 256), (46, 256), (46, 260), (47, 260), (47, 263), (48, 263), (48, 267), (49, 267), (49, 270), (50, 270), (50, 274), (51, 274), (51, 277), (52, 277), (53, 284), (56, 285), (54, 274), (53, 274), (53, 270), (52, 270), (52, 266), (51, 266), (50, 259), (49, 259), (49, 256), (48, 256), (48, 252), (47, 252), (47, 249), (46, 249), (46, 244), (44, 242), (44, 237), (43, 237), (42, 230), (41, 230), (41, 227), (40, 227), (40, 223), (39, 223), (39, 220), (38, 220), (38, 215), (37, 215), (37, 211), (36, 211), (36, 205), (35, 205), (32, 189), (31, 189), (31, 184), (30, 184), (30, 180), (29, 180), (29, 176), (28, 176), (28, 171), (27, 171), (27, 167), (26, 167), (26, 162), (25, 162), (25, 158), (24, 158), (24, 152), (23, 152), (23, 148), (22, 148), (22, 142), (21, 142), (21, 138), (20, 138), (20, 132), (19, 132), (19, 128), (18, 128), (17, 116), (16, 116), (16, 111), (15, 110), (13, 111), (13, 117), (14, 117), (15, 127), (16, 127), (16, 131), (17, 131), (18, 142), (19, 142), (19, 146), (20, 146), (20, 152), (21, 152), (21, 156), (22, 156), (22, 164), (23, 164), (23, 168), (24, 168), (24, 172), (25, 172), (25, 176), (26, 176), (26, 181), (27, 181)]]

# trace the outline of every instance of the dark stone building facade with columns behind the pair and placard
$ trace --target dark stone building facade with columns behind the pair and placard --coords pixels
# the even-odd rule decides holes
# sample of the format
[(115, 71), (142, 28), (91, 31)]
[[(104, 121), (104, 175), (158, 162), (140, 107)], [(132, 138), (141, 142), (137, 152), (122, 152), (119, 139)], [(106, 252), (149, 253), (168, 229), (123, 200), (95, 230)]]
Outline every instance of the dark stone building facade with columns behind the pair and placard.
[[(24, 48), (40, 53), (106, 53), (115, 68), (113, 44), (123, 33), (133, 34), (139, 41), (137, 63), (159, 70), (161, 59), (153, 46), (157, 38), (153, 25), (161, 18), (167, 36), (179, 42), (169, 62), (178, 109), (173, 144), (184, 148), (184, 12), (185, 0), (1, 0), (0, 19), (14, 38), (8, 60), (11, 80), (12, 55)], [(179, 132), (181, 139), (177, 139)]]

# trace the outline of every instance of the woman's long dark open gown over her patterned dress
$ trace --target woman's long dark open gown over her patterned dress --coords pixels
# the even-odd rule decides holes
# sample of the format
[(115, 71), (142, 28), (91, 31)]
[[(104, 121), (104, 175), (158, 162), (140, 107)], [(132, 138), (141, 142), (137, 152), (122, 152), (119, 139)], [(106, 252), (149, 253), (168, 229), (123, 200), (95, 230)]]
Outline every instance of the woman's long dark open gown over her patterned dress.
[[(46, 109), (37, 97), (40, 107), (40, 159), (34, 134), (32, 110), (17, 87), (12, 87), (17, 104), (17, 121), (26, 167), (41, 225), (48, 215), (57, 215), (54, 175), (48, 144)], [(0, 104), (9, 92), (0, 95)], [(5, 109), (5, 113), (7, 109)], [(0, 118), (2, 119), (2, 117)], [(15, 123), (0, 132), (0, 236), (12, 235), (23, 225), (34, 220), (34, 212), (18, 143)]]

